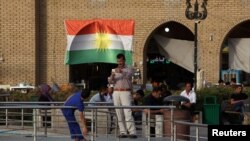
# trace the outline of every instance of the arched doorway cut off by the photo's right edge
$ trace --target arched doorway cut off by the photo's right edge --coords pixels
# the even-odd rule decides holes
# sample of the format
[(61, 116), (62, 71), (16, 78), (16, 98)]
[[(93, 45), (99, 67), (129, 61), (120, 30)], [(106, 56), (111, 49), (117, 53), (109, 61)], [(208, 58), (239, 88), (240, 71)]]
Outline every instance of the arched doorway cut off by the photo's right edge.
[(231, 78), (236, 78), (237, 83), (250, 85), (249, 44), (250, 20), (247, 20), (233, 27), (222, 43), (220, 63), (222, 80), (229, 82)]

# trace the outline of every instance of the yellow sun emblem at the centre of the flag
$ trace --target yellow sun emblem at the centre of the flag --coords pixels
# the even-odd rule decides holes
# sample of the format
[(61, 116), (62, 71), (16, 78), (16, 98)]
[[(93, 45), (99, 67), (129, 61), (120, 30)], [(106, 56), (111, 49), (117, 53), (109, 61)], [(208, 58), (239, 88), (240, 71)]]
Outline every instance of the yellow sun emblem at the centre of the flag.
[(105, 51), (109, 48), (111, 41), (106, 33), (96, 33), (96, 48), (98, 51)]

